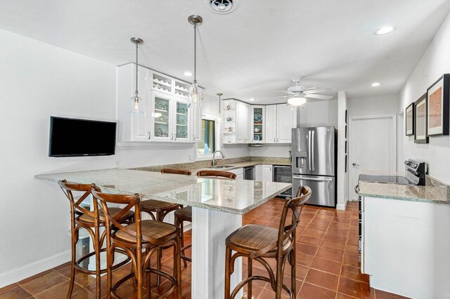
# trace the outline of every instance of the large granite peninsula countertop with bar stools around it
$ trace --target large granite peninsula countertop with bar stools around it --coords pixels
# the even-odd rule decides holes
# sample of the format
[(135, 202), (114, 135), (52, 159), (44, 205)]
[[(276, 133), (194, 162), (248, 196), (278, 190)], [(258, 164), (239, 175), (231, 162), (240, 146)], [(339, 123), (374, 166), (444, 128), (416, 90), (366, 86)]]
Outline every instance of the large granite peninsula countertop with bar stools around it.
[(207, 208), (234, 214), (245, 214), (291, 184), (254, 180), (218, 180), (196, 175), (175, 175), (130, 169), (103, 169), (70, 173), (35, 175), (40, 180), (68, 180), (80, 184), (95, 182), (103, 192), (139, 193), (144, 199), (157, 199), (186, 206)]

